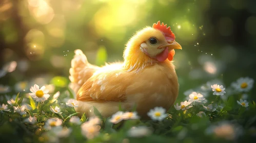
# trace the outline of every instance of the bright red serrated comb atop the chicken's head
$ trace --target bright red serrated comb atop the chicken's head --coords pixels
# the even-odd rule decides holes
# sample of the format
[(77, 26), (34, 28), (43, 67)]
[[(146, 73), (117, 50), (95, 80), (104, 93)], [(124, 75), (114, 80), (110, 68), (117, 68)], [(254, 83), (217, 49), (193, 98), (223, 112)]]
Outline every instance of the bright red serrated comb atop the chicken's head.
[(164, 25), (163, 22), (162, 25), (160, 24), (160, 21), (154, 23), (153, 28), (162, 31), (165, 34), (167, 40), (175, 40), (175, 35), (172, 33), (171, 28), (167, 28), (167, 25)]

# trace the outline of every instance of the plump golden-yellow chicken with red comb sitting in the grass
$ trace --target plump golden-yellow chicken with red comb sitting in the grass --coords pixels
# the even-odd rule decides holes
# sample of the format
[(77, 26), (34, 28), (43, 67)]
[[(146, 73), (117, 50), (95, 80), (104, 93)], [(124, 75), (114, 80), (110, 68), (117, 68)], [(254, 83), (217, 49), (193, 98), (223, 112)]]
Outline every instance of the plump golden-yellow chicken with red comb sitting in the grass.
[(182, 49), (164, 23), (146, 27), (128, 41), (123, 63), (98, 67), (88, 63), (81, 50), (71, 62), (71, 88), (76, 93), (77, 112), (94, 116), (93, 106), (105, 116), (120, 107), (147, 118), (156, 107), (169, 109), (178, 97), (179, 83), (172, 62), (174, 49)]

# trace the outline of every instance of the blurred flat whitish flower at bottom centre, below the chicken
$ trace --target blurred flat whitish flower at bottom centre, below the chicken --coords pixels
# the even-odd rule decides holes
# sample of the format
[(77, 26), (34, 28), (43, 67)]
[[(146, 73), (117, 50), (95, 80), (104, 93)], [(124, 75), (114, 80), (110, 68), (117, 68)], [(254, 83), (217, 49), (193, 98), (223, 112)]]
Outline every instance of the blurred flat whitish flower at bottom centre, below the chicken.
[(152, 131), (149, 130), (147, 127), (132, 127), (128, 132), (128, 136), (130, 137), (143, 137), (152, 134)]

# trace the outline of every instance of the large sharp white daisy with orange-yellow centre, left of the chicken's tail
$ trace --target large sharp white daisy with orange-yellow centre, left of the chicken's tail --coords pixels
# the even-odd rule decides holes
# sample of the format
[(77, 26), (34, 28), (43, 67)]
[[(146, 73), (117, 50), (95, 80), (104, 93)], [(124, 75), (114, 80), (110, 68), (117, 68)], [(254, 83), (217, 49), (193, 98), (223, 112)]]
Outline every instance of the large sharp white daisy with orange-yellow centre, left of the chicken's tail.
[(42, 86), (39, 89), (38, 85), (34, 85), (30, 88), (30, 91), (32, 93), (29, 93), (29, 95), (36, 101), (36, 102), (44, 102), (46, 101), (50, 95), (48, 94), (49, 90), (45, 88), (45, 86)]

